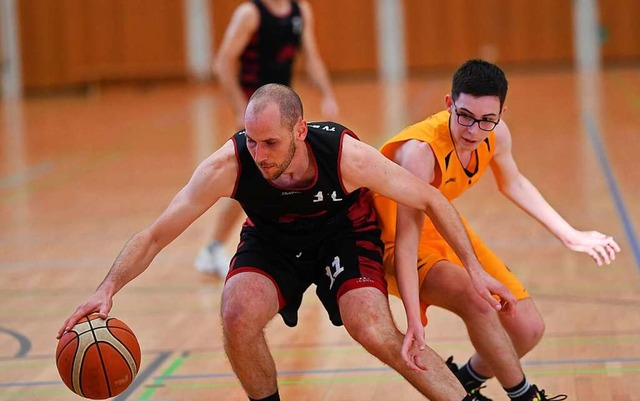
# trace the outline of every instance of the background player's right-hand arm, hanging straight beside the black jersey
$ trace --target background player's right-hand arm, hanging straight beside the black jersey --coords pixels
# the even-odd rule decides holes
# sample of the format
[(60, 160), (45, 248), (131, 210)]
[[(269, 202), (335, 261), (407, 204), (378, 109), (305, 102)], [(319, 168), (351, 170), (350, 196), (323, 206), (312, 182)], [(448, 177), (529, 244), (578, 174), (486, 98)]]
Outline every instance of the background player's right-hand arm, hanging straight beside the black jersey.
[(327, 68), (320, 58), (320, 52), (314, 34), (313, 11), (307, 1), (298, 3), (303, 19), (302, 54), (304, 55), (305, 68), (311, 81), (322, 93), (322, 113), (326, 118), (333, 119), (338, 115), (338, 103), (336, 102)]

